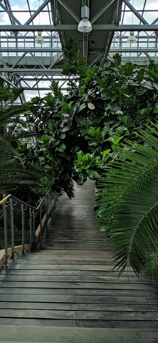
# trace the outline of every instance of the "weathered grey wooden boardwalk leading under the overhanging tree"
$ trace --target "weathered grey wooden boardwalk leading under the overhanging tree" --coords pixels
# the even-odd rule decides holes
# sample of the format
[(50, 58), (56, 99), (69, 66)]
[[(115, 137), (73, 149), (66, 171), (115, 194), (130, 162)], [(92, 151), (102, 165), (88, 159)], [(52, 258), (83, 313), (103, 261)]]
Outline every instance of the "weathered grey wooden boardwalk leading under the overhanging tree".
[(0, 342), (158, 343), (157, 289), (110, 272), (94, 182), (63, 194), (36, 252), (0, 272)]

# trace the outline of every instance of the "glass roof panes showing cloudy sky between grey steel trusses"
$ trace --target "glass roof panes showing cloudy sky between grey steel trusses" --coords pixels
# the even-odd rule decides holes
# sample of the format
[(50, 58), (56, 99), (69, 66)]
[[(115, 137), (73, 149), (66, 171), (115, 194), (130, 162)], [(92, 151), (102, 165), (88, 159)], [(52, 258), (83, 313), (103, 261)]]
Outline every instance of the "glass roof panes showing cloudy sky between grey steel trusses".
[[(7, 7), (13, 16), (21, 23), (24, 24), (38, 8), (44, 4), (43, 0), (3, 0), (0, 2), (0, 25), (10, 25), (16, 24), (14, 19), (9, 16), (7, 12), (1, 7)], [(151, 23), (158, 23), (158, 1), (157, 0), (131, 0), (129, 1), (129, 5), (132, 5), (134, 9), (137, 11), (133, 13), (132, 10), (127, 6), (125, 2), (122, 5), (122, 15), (120, 24), (141, 24), (143, 25), (142, 21), (137, 17), (137, 13), (139, 13), (143, 19), (145, 19), (149, 24)], [(78, 14), (79, 15), (79, 14)], [(52, 16), (51, 16), (51, 7), (50, 2), (41, 10), (41, 12), (34, 18), (33, 22), (30, 25), (52, 25)], [(149, 51), (151, 48), (157, 48), (157, 32), (134, 32), (136, 36), (137, 42), (134, 44), (127, 43), (127, 37), (129, 36), (129, 32), (115, 32), (110, 56), (112, 57), (114, 52), (119, 51), (122, 55), (123, 62), (127, 61), (134, 61), (135, 63), (147, 64), (148, 60), (151, 58), (155, 58), (158, 60), (158, 50), (157, 51)], [(24, 68), (28, 68), (31, 65), (32, 68), (42, 69), (43, 64), (47, 64), (50, 66), (53, 64), (53, 61), (57, 58), (60, 60), (61, 52), (57, 51), (42, 51), (42, 52), (34, 52), (34, 48), (41, 47), (39, 44), (35, 43), (35, 37), (37, 35), (33, 32), (20, 32), (20, 33), (10, 33), (10, 32), (1, 32), (0, 33), (0, 59), (3, 60), (3, 64), (16, 64), (17, 58), (20, 59), (22, 66)], [(53, 49), (61, 49), (60, 39), (58, 33), (55, 32), (42, 32), (42, 36), (44, 37), (45, 44), (42, 45), (42, 48), (53, 48)], [(16, 48), (14, 51), (9, 51), (7, 49)], [(28, 48), (30, 51), (19, 51), (18, 48)], [(140, 52), (138, 49), (143, 49), (144, 52)], [(122, 51), (123, 49), (123, 51)], [(125, 49), (125, 51), (124, 51)], [(131, 52), (131, 49), (135, 49), (134, 52)], [(4, 51), (5, 50), (5, 51)], [(25, 54), (25, 55), (24, 55)], [(22, 59), (22, 56), (24, 58)], [(12, 59), (12, 60), (11, 60)], [(2, 61), (1, 60), (1, 61)], [(25, 64), (24, 64), (25, 61)], [(19, 62), (20, 63), (20, 62)], [(16, 68), (19, 68), (19, 65)], [(22, 67), (22, 68), (23, 68)], [(5, 76), (5, 75), (4, 75)], [(26, 100), (30, 99), (30, 97), (40, 95), (44, 96), (45, 93), (48, 92), (50, 81), (52, 79), (58, 79), (60, 85), (63, 84), (63, 91), (66, 88), (66, 82), (63, 80), (65, 79), (63, 76), (48, 76), (48, 75), (19, 75), (17, 76), (16, 82), (17, 84), (21, 84), (27, 88), (26, 90)], [(66, 78), (67, 79), (67, 78)], [(9, 80), (13, 82), (13, 76), (9, 76)], [(62, 81), (60, 81), (62, 80)], [(14, 80), (15, 81), (15, 80)], [(31, 88), (31, 89), (29, 89)], [(42, 90), (42, 88), (47, 88)]]

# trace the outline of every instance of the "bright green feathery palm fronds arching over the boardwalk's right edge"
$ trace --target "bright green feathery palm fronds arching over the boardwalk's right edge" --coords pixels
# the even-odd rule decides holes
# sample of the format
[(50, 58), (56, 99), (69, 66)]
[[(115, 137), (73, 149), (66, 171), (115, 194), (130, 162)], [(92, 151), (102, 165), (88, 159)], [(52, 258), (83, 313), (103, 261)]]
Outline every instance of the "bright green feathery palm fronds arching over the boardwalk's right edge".
[[(119, 276), (130, 267), (137, 276), (158, 282), (158, 128), (138, 135), (144, 145), (129, 142), (99, 182), (101, 230), (108, 230), (109, 248)], [(149, 130), (150, 133), (149, 133)]]

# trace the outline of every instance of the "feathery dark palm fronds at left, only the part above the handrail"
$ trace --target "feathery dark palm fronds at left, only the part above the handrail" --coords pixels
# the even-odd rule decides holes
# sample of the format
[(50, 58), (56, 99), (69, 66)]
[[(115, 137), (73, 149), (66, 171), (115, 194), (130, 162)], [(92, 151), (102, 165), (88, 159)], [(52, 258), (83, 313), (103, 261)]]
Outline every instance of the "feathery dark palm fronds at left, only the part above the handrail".
[(18, 104), (24, 88), (4, 87), (0, 81), (0, 192), (20, 186), (37, 186), (43, 176), (39, 167), (25, 168), (18, 150), (33, 132), (21, 119), (28, 113), (28, 104)]

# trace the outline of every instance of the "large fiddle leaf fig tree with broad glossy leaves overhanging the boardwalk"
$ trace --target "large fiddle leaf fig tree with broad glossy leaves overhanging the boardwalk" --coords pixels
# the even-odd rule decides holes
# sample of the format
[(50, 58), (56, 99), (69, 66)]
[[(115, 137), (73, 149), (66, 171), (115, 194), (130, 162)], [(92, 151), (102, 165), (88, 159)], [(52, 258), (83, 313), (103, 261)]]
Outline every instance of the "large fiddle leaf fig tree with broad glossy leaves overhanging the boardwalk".
[[(50, 92), (29, 104), (27, 121), (36, 132), (36, 144), (21, 149), (25, 163), (40, 165), (51, 176), (45, 187), (73, 196), (72, 179), (82, 185), (98, 179), (109, 160), (118, 159), (118, 148), (129, 139), (141, 142), (136, 133), (158, 113), (158, 64), (136, 68), (116, 54), (91, 67), (78, 59), (77, 40), (68, 38), (63, 47), (70, 76), (67, 93), (58, 82)], [(143, 144), (144, 142), (142, 142)]]

